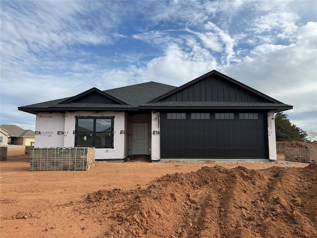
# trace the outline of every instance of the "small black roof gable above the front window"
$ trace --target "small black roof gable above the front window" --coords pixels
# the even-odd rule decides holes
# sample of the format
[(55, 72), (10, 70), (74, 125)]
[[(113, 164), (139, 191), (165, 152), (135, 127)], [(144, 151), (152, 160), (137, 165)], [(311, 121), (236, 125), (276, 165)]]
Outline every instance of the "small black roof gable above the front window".
[(119, 104), (125, 105), (126, 103), (122, 102), (121, 100), (112, 97), (111, 95), (107, 94), (99, 90), (98, 88), (91, 88), (85, 92), (82, 92), (76, 96), (67, 98), (59, 102), (58, 104), (69, 104), (69, 103), (92, 103), (92, 104)]

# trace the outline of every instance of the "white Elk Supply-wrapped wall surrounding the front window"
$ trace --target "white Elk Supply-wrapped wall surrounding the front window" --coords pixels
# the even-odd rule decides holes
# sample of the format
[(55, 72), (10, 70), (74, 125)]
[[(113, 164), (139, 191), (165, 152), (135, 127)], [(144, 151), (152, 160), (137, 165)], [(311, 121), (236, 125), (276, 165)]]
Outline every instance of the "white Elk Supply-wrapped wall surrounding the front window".
[(127, 156), (127, 123), (124, 112), (43, 113), (36, 117), (35, 147), (74, 147), (75, 116), (114, 116), (114, 148), (97, 148), (96, 159), (124, 159)]

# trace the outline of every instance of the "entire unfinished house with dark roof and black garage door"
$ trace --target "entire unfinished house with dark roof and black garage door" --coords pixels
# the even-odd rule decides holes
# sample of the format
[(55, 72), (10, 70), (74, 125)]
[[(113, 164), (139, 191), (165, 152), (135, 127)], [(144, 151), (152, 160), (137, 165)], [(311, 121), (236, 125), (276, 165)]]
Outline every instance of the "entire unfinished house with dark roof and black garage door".
[(292, 109), (215, 70), (180, 87), (156, 82), (19, 107), (35, 147), (96, 147), (96, 159), (276, 160), (274, 113)]

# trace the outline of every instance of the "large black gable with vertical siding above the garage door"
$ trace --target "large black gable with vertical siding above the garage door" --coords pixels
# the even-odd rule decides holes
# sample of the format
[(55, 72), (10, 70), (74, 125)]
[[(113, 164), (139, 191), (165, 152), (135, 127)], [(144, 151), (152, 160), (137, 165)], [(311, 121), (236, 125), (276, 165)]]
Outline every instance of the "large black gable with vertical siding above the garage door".
[(152, 101), (280, 103), (267, 95), (212, 70)]

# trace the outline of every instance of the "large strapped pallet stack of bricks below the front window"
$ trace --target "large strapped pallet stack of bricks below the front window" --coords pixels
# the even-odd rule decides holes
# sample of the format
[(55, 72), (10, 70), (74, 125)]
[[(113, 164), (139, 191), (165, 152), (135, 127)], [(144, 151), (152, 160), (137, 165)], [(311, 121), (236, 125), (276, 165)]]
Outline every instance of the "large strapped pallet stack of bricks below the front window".
[(34, 148), (31, 171), (85, 171), (95, 166), (95, 148)]

